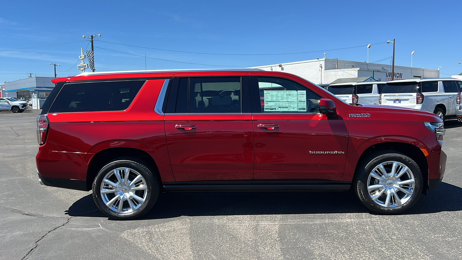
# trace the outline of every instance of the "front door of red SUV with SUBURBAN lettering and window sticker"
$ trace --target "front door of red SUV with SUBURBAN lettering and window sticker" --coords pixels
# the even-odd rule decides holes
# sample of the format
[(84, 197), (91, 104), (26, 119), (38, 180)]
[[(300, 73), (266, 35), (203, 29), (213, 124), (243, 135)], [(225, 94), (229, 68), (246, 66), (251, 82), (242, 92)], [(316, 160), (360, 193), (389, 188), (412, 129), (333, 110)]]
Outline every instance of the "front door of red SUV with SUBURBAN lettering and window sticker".
[[(250, 77), (250, 87), (253, 180), (340, 180), (346, 161), (347, 121), (320, 114), (322, 97), (298, 82)], [(255, 102), (260, 111), (255, 111)]]

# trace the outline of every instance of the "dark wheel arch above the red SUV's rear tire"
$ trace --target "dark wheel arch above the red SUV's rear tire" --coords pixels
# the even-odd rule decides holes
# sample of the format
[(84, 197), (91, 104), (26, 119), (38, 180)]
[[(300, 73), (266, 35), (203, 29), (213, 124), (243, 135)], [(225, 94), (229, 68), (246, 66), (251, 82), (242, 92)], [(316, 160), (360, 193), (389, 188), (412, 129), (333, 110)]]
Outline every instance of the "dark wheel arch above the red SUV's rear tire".
[(149, 163), (155, 170), (159, 180), (162, 180), (157, 163), (146, 151), (132, 147), (113, 147), (103, 149), (91, 157), (86, 173), (86, 186), (91, 190), (93, 180), (95, 180), (99, 170), (109, 161), (123, 156), (134, 156)]

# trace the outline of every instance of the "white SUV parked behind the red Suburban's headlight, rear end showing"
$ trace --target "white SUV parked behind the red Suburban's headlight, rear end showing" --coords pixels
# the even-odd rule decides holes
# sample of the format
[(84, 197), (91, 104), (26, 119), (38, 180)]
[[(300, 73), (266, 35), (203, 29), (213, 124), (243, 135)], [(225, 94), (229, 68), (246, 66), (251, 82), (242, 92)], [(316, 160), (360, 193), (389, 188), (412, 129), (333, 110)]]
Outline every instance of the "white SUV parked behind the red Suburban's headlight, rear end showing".
[(461, 87), (462, 81), (453, 78), (393, 80), (383, 88), (379, 104), (424, 110), (444, 120), (456, 116)]

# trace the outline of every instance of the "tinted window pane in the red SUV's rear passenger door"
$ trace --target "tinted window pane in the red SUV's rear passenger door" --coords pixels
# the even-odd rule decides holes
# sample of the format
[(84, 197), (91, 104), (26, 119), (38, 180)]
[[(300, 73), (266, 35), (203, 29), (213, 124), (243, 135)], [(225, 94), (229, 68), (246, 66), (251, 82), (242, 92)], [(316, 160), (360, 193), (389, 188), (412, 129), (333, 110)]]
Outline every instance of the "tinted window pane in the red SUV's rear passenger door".
[(240, 113), (241, 78), (190, 78), (189, 112)]

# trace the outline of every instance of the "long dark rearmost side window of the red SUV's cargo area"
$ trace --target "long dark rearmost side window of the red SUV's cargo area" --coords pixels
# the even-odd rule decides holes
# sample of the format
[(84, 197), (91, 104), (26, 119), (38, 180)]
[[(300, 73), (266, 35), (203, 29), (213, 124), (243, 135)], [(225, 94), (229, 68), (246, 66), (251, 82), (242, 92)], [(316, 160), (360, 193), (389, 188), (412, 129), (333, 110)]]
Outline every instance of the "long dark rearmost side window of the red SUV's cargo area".
[(128, 108), (146, 80), (66, 83), (49, 113), (122, 111)]

